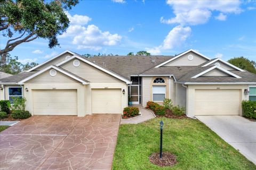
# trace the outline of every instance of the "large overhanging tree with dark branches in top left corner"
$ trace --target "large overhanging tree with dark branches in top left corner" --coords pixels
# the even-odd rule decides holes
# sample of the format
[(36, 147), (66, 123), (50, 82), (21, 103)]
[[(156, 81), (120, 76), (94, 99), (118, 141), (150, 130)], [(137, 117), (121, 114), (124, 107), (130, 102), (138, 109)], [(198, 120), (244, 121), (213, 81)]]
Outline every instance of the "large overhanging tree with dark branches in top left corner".
[(0, 32), (8, 38), (0, 49), (2, 60), (16, 46), (38, 37), (47, 39), (50, 48), (58, 46), (57, 36), (69, 26), (65, 11), (77, 3), (78, 0), (0, 0)]

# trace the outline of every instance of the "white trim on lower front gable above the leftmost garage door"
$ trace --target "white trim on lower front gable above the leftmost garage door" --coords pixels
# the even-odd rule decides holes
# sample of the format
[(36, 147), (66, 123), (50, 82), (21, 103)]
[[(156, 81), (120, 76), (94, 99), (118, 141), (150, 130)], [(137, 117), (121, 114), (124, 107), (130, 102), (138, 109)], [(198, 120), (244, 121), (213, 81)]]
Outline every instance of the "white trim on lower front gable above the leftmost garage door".
[(59, 69), (57, 66), (54, 66), (54, 65), (47, 66), (45, 69), (43, 69), (41, 71), (38, 71), (35, 74), (30, 75), (28, 78), (19, 81), (18, 84), (23, 84), (24, 82), (26, 82), (26, 81), (28, 81), (30, 79), (35, 78), (37, 75), (42, 74), (43, 72), (45, 72), (45, 71), (47, 71), (49, 69), (55, 69), (55, 70), (65, 74), (65, 75), (67, 75), (68, 77), (73, 78), (73, 79), (75, 79), (75, 80), (77, 80), (77, 81), (79, 81), (79, 82), (81, 82), (83, 84), (90, 84), (90, 82), (86, 82), (86, 81), (84, 81), (82, 79), (79, 79), (79, 78), (75, 77), (74, 75), (71, 75), (70, 73), (63, 71), (63, 70)]

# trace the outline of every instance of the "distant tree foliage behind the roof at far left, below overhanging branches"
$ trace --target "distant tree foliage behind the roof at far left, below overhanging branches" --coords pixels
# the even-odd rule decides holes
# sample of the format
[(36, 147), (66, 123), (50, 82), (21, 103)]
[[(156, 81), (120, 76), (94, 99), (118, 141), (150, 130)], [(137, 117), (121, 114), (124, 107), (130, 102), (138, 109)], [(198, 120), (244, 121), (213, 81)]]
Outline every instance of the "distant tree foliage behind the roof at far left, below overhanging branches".
[(17, 56), (11, 57), (10, 54), (7, 54), (5, 63), (0, 65), (0, 71), (14, 75), (38, 65), (35, 62), (22, 64), (18, 59)]

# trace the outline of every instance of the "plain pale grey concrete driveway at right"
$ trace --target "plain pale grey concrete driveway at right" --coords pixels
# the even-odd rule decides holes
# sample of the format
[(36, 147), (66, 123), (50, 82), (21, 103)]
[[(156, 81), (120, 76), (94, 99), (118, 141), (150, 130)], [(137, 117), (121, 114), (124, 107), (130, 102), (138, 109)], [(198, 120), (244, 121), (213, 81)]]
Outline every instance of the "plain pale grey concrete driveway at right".
[(256, 164), (256, 122), (242, 116), (196, 117)]

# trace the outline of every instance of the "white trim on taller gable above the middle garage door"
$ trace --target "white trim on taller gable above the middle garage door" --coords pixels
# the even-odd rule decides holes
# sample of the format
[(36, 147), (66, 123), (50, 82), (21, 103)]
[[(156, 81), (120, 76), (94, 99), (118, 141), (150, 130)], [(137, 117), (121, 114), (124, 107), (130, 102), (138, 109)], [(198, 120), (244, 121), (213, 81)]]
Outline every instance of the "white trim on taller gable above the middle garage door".
[(62, 64), (64, 64), (64, 63), (67, 63), (67, 62), (69, 62), (70, 60), (73, 60), (74, 58), (77, 58), (77, 59), (79, 59), (79, 60), (81, 60), (81, 61), (83, 61), (83, 62), (85, 62), (85, 63), (87, 63), (87, 64), (89, 64), (89, 65), (91, 65), (91, 66), (96, 67), (97, 69), (99, 69), (99, 70), (101, 70), (101, 71), (103, 71), (103, 72), (105, 72), (105, 73), (108, 73), (108, 74), (112, 75), (113, 77), (115, 77), (115, 78), (117, 78), (117, 79), (119, 79), (119, 80), (122, 80), (122, 81), (126, 82), (126, 84), (131, 84), (131, 81), (129, 81), (129, 80), (127, 80), (127, 79), (125, 79), (125, 78), (123, 78), (123, 77), (121, 77), (121, 76), (119, 76), (119, 75), (113, 73), (113, 72), (110, 72), (110, 71), (104, 69), (103, 67), (101, 67), (101, 66), (99, 66), (99, 65), (96, 65), (96, 64), (94, 64), (94, 63), (92, 63), (92, 62), (86, 60), (85, 58), (80, 57), (80, 56), (77, 56), (77, 55), (73, 55), (72, 57), (68, 58), (67, 60), (60, 62), (59, 64), (57, 64), (57, 66), (60, 66), (60, 65), (62, 65)]

